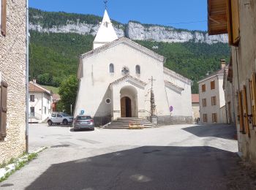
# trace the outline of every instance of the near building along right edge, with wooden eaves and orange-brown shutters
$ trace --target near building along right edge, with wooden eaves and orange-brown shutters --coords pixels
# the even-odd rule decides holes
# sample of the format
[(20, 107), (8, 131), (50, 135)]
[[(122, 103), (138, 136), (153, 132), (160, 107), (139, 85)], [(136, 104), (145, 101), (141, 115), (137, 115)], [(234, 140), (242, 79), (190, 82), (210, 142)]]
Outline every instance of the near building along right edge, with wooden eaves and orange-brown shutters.
[[(209, 34), (227, 33), (231, 46), (227, 75), (233, 93), (238, 149), (244, 160), (256, 165), (255, 23), (255, 0), (208, 0)], [(231, 97), (230, 90), (227, 92)]]

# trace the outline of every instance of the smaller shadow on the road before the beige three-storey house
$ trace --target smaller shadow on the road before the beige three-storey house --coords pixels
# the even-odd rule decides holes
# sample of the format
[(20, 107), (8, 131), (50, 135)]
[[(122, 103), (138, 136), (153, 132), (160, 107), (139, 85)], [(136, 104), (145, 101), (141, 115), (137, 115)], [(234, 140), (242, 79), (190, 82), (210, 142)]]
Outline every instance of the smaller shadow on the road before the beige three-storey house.
[(234, 140), (236, 134), (236, 126), (225, 124), (189, 126), (183, 130), (195, 134), (197, 137), (219, 137), (230, 140)]

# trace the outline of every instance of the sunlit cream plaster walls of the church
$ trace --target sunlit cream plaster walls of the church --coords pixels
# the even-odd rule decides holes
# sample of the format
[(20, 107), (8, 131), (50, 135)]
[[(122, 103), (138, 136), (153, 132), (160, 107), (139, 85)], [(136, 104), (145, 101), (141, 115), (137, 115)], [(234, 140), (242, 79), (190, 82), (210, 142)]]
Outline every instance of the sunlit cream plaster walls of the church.
[[(124, 66), (129, 68), (129, 75), (146, 83), (143, 89), (137, 88), (136, 84), (127, 84), (135, 86), (138, 91), (138, 96), (140, 95), (140, 98), (138, 98), (138, 111), (140, 116), (147, 117), (150, 112), (151, 83), (149, 79), (151, 76), (154, 77), (153, 88), (155, 104), (157, 105), (157, 115), (170, 115), (167, 92), (165, 91), (162, 61), (152, 58), (139, 50), (135, 50), (133, 47), (124, 43), (120, 43), (88, 58), (83, 58), (80, 61), (82, 63), (80, 69), (83, 73), (78, 74), (80, 76), (80, 88), (75, 107), (75, 115), (78, 115), (80, 110), (85, 110), (86, 114), (95, 117), (111, 115), (112, 111), (118, 115), (118, 110), (120, 110), (120, 91), (115, 90), (115, 92), (111, 93), (109, 87), (110, 83), (124, 77), (124, 75), (121, 74), (121, 69)], [(109, 72), (109, 65), (111, 63), (114, 65), (114, 73)], [(135, 73), (136, 65), (140, 65), (140, 75)], [(186, 98), (190, 99), (187, 107), (191, 107), (190, 84), (181, 87), (186, 89), (187, 96), (189, 97), (187, 98), (186, 96), (184, 102), (186, 102)], [(120, 90), (121, 88), (118, 87), (116, 89)], [(112, 103), (106, 104), (106, 98), (112, 99)], [(192, 117), (192, 107), (189, 109), (190, 114), (184, 113), (184, 115), (190, 115)], [(102, 110), (105, 111), (102, 112)]]

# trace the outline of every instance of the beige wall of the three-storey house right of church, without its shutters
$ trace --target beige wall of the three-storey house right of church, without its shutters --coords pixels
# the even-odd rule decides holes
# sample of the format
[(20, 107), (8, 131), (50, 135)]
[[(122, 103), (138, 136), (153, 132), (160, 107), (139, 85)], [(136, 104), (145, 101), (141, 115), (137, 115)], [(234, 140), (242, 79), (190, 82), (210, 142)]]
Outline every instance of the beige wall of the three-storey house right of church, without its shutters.
[[(217, 113), (217, 123), (225, 123), (220, 107), (225, 105), (225, 94), (223, 91), (223, 74), (207, 77), (201, 80), (199, 85), (200, 123), (213, 123), (212, 114)], [(215, 81), (215, 89), (211, 90), (211, 81)], [(206, 91), (202, 91), (202, 85), (206, 84)], [(216, 105), (211, 105), (211, 97), (216, 96)], [(203, 99), (206, 99), (206, 107), (203, 107)], [(207, 114), (208, 122), (203, 122), (203, 114)]]

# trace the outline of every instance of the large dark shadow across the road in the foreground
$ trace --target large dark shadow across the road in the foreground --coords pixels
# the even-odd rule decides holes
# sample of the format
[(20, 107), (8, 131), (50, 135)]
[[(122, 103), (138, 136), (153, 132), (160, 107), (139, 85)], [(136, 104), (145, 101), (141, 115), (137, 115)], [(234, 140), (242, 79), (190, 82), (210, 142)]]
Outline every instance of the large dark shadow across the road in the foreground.
[(211, 147), (146, 146), (53, 164), (26, 189), (227, 189), (238, 160)]

